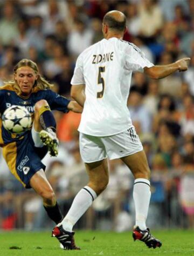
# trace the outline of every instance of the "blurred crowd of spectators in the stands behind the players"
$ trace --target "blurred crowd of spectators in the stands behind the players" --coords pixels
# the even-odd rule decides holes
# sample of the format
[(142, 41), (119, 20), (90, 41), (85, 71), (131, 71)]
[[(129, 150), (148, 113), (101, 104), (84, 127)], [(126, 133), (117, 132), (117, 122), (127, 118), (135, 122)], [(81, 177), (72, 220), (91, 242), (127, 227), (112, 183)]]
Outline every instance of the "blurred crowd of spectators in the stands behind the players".
[[(54, 91), (70, 97), (75, 60), (102, 39), (102, 18), (114, 9), (127, 17), (124, 39), (154, 64), (191, 58), (188, 71), (161, 80), (134, 73), (128, 108), (151, 168), (147, 224), (194, 228), (194, 0), (2, 0), (0, 86), (12, 77), (18, 60), (30, 58)], [(47, 156), (44, 163), (65, 213), (86, 185), (87, 175), (79, 154), (80, 114), (54, 115), (60, 153), (57, 158)], [(32, 230), (52, 225), (40, 199), (11, 177), (0, 158), (1, 228)], [(109, 185), (78, 227), (120, 232), (133, 225), (133, 178), (120, 160), (109, 165)]]

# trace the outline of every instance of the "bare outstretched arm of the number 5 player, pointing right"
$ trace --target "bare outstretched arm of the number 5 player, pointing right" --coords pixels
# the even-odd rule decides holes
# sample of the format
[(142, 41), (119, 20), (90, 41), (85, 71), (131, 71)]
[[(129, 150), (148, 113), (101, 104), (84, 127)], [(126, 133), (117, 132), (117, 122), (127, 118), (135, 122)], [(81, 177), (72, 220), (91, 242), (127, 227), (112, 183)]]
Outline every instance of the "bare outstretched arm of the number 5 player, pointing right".
[(144, 68), (144, 73), (153, 79), (160, 79), (171, 75), (172, 73), (188, 70), (188, 63), (190, 58), (182, 58), (169, 65), (152, 66), (151, 68)]

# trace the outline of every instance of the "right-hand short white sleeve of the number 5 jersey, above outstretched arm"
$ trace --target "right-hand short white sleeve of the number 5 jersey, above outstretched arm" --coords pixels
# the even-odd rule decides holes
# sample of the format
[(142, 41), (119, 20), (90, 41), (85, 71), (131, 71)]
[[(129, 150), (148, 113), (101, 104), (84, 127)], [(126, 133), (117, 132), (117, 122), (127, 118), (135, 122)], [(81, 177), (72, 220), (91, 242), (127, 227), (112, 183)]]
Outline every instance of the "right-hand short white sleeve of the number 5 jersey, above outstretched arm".
[(144, 53), (134, 44), (128, 43), (126, 49), (126, 65), (125, 68), (131, 71), (143, 72), (145, 67), (154, 66), (144, 55)]

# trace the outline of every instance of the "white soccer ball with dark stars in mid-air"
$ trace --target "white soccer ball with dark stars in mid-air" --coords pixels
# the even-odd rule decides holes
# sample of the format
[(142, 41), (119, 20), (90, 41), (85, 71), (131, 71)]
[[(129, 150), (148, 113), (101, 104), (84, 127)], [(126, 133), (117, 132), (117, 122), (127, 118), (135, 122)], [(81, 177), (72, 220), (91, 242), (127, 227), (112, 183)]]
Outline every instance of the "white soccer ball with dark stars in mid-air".
[(22, 133), (31, 127), (32, 118), (25, 107), (13, 105), (4, 111), (2, 123), (7, 131)]

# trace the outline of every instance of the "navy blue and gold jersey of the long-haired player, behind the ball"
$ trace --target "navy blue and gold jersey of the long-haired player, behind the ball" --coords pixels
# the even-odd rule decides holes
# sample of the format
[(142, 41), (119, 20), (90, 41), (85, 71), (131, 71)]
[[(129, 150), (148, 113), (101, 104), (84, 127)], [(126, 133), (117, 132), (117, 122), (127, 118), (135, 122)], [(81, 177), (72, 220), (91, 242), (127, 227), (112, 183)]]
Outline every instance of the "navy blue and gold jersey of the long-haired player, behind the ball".
[[(3, 112), (12, 105), (24, 106), (32, 115), (34, 113), (34, 105), (41, 99), (45, 99), (49, 104), (51, 110), (59, 110), (61, 112), (68, 112), (68, 104), (70, 100), (63, 96), (58, 95), (56, 92), (51, 90), (34, 90), (31, 95), (27, 98), (23, 98), (17, 95), (12, 85), (5, 85), (0, 88), (0, 113)], [(6, 131), (2, 126), (2, 120), (0, 118), (0, 146), (5, 144), (16, 142), (22, 139), (24, 134), (11, 134)]]

